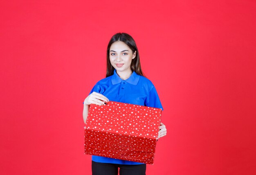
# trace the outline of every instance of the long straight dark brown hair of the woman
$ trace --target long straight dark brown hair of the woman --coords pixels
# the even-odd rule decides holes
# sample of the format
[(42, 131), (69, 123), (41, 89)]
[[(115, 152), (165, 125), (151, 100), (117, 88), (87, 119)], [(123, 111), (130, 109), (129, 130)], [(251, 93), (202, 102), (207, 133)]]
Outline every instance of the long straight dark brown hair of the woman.
[(139, 52), (138, 52), (138, 48), (137, 48), (137, 45), (135, 43), (135, 40), (129, 34), (117, 33), (114, 36), (112, 36), (112, 38), (110, 39), (110, 41), (108, 43), (106, 77), (111, 76), (111, 75), (114, 74), (115, 68), (110, 63), (109, 51), (110, 51), (110, 46), (112, 45), (112, 43), (114, 43), (116, 41), (123, 41), (124, 43), (126, 43), (126, 45), (128, 45), (128, 47), (130, 47), (130, 49), (132, 50), (132, 53), (134, 53), (136, 51), (136, 56), (135, 56), (135, 58), (132, 59), (131, 70), (135, 71), (137, 74), (139, 74), (141, 76), (145, 76), (143, 74), (142, 70), (141, 70), (140, 61), (139, 61)]

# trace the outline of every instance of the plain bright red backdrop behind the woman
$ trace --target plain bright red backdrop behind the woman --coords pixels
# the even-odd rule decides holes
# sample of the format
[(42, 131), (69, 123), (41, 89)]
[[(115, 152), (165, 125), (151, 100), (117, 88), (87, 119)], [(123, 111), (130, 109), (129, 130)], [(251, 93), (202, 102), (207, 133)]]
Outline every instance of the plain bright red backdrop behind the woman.
[(1, 1), (0, 172), (83, 175), (83, 100), (136, 41), (167, 135), (147, 175), (256, 172), (254, 0)]

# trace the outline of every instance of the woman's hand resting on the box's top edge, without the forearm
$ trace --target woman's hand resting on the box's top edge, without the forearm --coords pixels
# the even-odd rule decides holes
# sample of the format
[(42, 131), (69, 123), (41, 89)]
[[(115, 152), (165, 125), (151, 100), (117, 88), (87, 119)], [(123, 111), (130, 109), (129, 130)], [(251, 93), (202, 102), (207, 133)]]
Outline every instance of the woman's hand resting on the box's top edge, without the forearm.
[(90, 95), (88, 95), (84, 101), (83, 104), (85, 105), (90, 105), (90, 104), (95, 104), (95, 105), (105, 105), (105, 102), (109, 102), (109, 99), (98, 93), (98, 92), (92, 92)]

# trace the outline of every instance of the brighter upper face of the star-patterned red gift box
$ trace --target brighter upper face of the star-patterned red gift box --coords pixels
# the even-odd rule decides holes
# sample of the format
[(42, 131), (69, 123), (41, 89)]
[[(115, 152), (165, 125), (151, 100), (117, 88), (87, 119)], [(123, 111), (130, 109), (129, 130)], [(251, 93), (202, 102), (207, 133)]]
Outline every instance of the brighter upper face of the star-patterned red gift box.
[(110, 101), (90, 105), (85, 129), (157, 139), (162, 109)]

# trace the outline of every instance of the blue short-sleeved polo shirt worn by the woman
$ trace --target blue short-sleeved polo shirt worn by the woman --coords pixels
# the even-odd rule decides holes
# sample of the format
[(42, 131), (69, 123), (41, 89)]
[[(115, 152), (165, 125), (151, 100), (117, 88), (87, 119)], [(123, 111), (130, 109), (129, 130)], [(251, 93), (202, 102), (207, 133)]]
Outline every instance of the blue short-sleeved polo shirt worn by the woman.
[[(108, 76), (105, 79), (98, 81), (92, 88), (90, 94), (92, 92), (103, 94), (110, 101), (144, 105), (154, 108), (162, 108), (162, 110), (164, 110), (153, 83), (146, 77), (138, 75), (136, 72), (132, 72), (128, 79), (123, 80), (115, 70), (112, 76)], [(92, 161), (128, 165), (143, 164), (95, 155), (92, 155)]]

